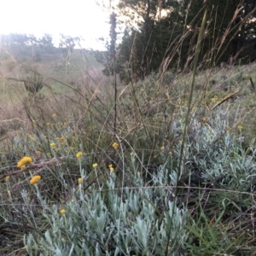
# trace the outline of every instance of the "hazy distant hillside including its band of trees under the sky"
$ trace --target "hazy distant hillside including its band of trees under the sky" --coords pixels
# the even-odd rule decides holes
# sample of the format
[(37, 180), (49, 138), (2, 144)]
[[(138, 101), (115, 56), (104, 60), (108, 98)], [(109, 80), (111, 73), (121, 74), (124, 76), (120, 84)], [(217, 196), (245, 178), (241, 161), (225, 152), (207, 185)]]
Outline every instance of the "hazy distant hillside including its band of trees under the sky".
[[(84, 81), (98, 84), (103, 79), (102, 64), (96, 61), (93, 51), (40, 47), (37, 45), (2, 45), (0, 50), (0, 96), (16, 90), (20, 80), (28, 78), (32, 71), (44, 76), (44, 82), (56, 92), (83, 86)], [(60, 81), (61, 83), (58, 83)], [(68, 84), (65, 86), (64, 84)]]

